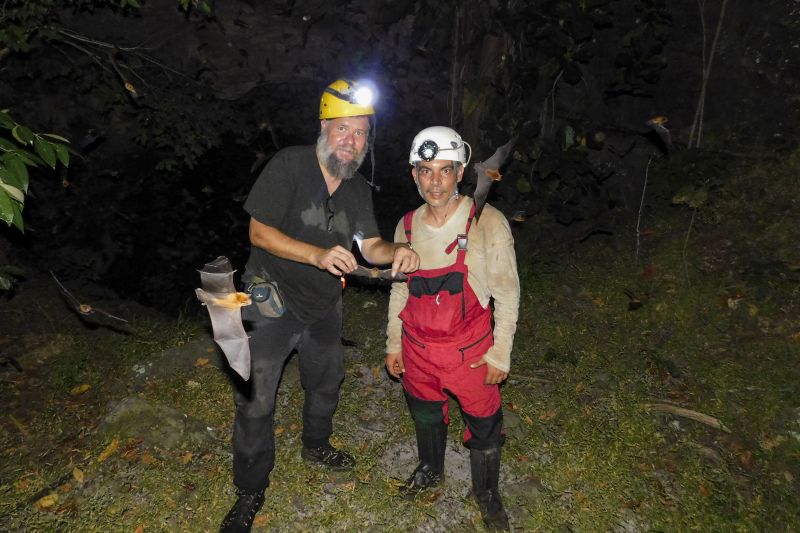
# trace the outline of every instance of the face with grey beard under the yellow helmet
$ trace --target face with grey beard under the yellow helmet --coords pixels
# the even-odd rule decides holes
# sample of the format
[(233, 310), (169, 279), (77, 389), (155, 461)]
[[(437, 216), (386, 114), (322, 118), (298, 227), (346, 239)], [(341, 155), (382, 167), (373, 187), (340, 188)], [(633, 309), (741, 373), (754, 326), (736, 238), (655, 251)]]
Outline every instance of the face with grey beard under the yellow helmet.
[(367, 155), (367, 117), (342, 117), (323, 122), (317, 138), (317, 158), (327, 171), (349, 180)]

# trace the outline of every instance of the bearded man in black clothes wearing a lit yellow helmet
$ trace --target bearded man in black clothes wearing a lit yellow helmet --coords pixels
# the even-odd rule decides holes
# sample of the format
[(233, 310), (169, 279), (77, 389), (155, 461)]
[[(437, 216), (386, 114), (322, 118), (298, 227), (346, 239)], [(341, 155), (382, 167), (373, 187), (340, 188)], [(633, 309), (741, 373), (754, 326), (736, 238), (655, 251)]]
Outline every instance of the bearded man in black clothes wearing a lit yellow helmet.
[(275, 465), (275, 395), (294, 349), (305, 389), (302, 458), (334, 470), (355, 466), (329, 441), (344, 378), (340, 277), (357, 266), (353, 241), (370, 263), (391, 263), (393, 274), (419, 265), (408, 244), (381, 239), (370, 187), (356, 172), (369, 150), (375, 113), (360, 100), (365, 88), (348, 80), (329, 85), (320, 101), (316, 146), (275, 154), (244, 204), (252, 247), (243, 280), (255, 301), (268, 294), (264, 303), (271, 305), (242, 310), (250, 325), (251, 377), (234, 387), (238, 498), (222, 522), (225, 532), (250, 531), (264, 503)]

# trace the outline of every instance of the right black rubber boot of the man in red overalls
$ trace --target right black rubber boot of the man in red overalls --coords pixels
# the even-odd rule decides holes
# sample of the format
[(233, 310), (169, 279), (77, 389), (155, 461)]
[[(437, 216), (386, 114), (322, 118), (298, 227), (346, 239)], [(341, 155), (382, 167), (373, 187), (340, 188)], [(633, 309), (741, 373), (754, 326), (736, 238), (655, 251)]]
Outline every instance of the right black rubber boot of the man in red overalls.
[(489, 531), (508, 531), (508, 515), (500, 499), (497, 482), (500, 478), (500, 448), (470, 450), (472, 494)]

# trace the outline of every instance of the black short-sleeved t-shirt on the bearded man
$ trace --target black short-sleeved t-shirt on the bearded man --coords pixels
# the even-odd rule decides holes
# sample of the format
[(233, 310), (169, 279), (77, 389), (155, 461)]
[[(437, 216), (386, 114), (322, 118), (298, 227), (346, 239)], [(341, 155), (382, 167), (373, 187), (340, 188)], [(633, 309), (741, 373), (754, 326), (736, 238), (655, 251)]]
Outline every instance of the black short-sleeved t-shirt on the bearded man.
[[(275, 154), (244, 209), (262, 224), (320, 248), (338, 244), (349, 250), (354, 239), (379, 236), (366, 180), (356, 174), (329, 196), (314, 146), (293, 146)], [(247, 271), (277, 281), (288, 309), (304, 322), (325, 316), (342, 294), (339, 278), (329, 272), (257, 246), (250, 249)]]

